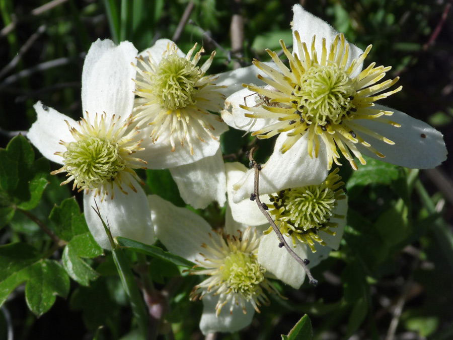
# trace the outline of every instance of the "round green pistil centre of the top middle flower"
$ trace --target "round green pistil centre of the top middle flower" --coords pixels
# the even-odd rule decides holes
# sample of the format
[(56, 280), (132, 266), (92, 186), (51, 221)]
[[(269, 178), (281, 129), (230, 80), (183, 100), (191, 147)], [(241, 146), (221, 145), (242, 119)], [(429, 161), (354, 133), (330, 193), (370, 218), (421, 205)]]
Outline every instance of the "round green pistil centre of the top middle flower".
[(176, 54), (163, 58), (156, 70), (154, 93), (161, 105), (175, 110), (195, 104), (196, 82), (200, 79), (200, 68)]

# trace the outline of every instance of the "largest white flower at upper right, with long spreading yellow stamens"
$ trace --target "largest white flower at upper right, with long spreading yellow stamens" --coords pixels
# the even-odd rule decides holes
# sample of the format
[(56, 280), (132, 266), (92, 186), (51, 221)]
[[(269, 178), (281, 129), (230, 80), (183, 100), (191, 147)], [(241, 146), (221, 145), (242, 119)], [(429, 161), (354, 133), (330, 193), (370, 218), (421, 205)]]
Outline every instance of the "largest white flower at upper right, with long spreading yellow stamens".
[[(401, 87), (394, 88), (398, 77), (381, 81), (390, 66), (372, 62), (362, 70), (371, 45), (362, 51), (349, 44), (300, 5), (293, 12), (293, 52), (280, 41), (289, 67), (270, 50), (274, 67), (255, 60), (266, 74), (257, 77), (267, 85), (250, 84), (227, 98), (222, 111), (226, 123), (260, 139), (278, 134), (274, 154), (281, 162), (274, 163), (279, 166), (292, 160), (304, 169), (305, 158), (293, 157), (299, 150), (327, 169), (334, 162), (340, 165), (340, 153), (354, 169), (354, 156), (365, 164), (362, 155), (408, 168), (432, 168), (446, 159), (441, 133), (376, 103)], [(299, 172), (282, 175), (290, 181)]]

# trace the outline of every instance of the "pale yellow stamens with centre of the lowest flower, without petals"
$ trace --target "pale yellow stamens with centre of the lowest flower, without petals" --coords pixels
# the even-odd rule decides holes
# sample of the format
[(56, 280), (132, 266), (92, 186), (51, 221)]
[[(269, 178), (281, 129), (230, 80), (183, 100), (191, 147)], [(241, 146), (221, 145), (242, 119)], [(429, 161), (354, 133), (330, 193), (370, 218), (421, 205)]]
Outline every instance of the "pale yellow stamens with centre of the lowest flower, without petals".
[(203, 261), (195, 267), (204, 269), (193, 269), (192, 275), (209, 275), (209, 278), (194, 287), (191, 299), (203, 298), (206, 294), (213, 292), (218, 296), (215, 306), (218, 316), (222, 307), (230, 303), (230, 313), (235, 305), (241, 306), (246, 314), (246, 303), (251, 303), (257, 312), (261, 303), (268, 305), (269, 299), (264, 293), (278, 292), (265, 278), (266, 269), (258, 263), (257, 254), (259, 239), (256, 230), (251, 232), (248, 228), (243, 235), (236, 237), (228, 235), (226, 240), (220, 233), (214, 236), (209, 234), (212, 246), (203, 244), (206, 254)]

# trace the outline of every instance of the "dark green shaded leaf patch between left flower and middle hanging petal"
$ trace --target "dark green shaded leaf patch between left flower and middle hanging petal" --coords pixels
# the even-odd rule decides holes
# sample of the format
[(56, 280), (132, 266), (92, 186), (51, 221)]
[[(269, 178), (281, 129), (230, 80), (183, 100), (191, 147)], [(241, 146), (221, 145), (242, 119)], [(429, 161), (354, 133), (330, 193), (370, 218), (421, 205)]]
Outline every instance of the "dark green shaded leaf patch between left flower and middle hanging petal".
[(186, 206), (179, 194), (178, 185), (168, 169), (146, 170), (146, 184), (151, 189), (151, 193), (161, 196), (177, 207)]

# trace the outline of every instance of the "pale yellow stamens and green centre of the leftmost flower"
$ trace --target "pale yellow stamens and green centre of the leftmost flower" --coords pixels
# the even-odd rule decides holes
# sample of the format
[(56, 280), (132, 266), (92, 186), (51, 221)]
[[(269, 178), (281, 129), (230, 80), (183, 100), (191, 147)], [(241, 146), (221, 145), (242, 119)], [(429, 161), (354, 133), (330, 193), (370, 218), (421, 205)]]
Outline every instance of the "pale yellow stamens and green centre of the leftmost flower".
[(61, 183), (67, 184), (74, 181), (72, 189), (79, 191), (94, 190), (101, 201), (105, 195), (113, 199), (113, 187), (116, 185), (123, 193), (123, 185), (127, 185), (133, 191), (132, 178), (144, 185), (134, 170), (145, 168), (145, 161), (132, 155), (143, 150), (140, 142), (134, 140), (139, 132), (137, 128), (130, 128), (130, 117), (124, 122), (121, 117), (112, 116), (106, 121), (106, 114), (91, 121), (87, 112), (87, 118), (79, 121), (79, 126), (68, 125), (69, 131), (74, 138), (73, 142), (60, 141), (66, 148), (64, 152), (56, 152), (63, 158), (63, 167), (51, 172), (52, 175), (67, 172), (68, 178)]

